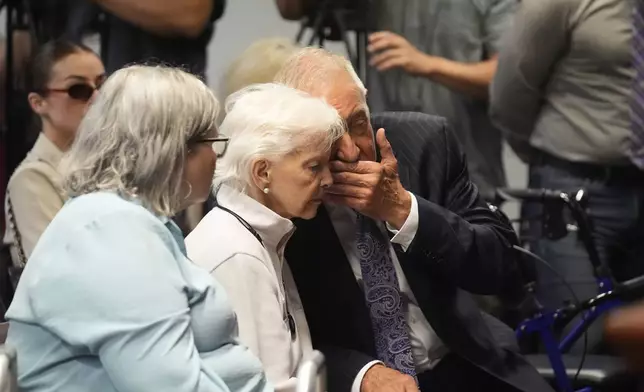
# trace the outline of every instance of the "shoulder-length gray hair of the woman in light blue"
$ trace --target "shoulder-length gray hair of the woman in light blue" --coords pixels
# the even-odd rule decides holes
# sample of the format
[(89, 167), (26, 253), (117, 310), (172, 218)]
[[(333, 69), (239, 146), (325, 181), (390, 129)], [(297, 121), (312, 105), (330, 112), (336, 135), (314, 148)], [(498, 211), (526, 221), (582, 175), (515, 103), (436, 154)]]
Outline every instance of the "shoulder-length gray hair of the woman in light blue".
[(61, 169), (71, 197), (109, 190), (172, 216), (185, 198), (188, 142), (215, 129), (219, 103), (176, 68), (131, 66), (105, 82)]

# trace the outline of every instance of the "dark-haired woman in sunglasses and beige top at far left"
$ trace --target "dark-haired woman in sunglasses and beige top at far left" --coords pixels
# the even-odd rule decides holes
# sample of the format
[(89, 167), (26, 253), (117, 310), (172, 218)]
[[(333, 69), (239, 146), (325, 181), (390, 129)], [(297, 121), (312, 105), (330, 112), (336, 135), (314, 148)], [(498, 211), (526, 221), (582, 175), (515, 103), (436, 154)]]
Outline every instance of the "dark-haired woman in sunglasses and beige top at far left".
[(105, 77), (103, 63), (91, 49), (62, 40), (40, 48), (32, 67), (29, 105), (38, 117), (40, 134), (11, 176), (5, 198), (9, 229), (4, 242), (11, 245), (17, 266), (24, 265), (65, 202), (58, 163)]

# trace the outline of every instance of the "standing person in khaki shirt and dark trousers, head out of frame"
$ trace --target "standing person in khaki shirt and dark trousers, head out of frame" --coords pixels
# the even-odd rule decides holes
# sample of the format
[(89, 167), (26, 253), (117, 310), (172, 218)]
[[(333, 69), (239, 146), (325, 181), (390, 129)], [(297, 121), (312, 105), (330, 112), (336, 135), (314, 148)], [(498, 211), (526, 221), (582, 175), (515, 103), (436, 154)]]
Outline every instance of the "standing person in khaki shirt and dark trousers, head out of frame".
[[(599, 257), (618, 281), (644, 274), (644, 172), (628, 151), (634, 5), (523, 0), (491, 88), (492, 118), (530, 165), (529, 187), (587, 192)], [(577, 298), (597, 295), (582, 242), (575, 233), (543, 238), (543, 213), (540, 204), (524, 206), (530, 247)], [(547, 308), (574, 300), (560, 277), (541, 265), (538, 273), (537, 294)], [(596, 347), (601, 327), (589, 333)], [(573, 350), (584, 350), (583, 342)]]

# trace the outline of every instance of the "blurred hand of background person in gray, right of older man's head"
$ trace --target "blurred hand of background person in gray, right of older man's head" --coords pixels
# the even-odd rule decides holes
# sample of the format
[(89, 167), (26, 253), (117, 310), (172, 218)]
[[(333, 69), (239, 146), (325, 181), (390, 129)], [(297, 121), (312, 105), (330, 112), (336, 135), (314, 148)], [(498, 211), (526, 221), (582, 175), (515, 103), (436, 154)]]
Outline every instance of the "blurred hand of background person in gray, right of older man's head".
[(429, 75), (436, 62), (434, 57), (389, 31), (370, 34), (367, 50), (372, 54), (370, 64), (378, 71), (402, 68), (412, 75)]

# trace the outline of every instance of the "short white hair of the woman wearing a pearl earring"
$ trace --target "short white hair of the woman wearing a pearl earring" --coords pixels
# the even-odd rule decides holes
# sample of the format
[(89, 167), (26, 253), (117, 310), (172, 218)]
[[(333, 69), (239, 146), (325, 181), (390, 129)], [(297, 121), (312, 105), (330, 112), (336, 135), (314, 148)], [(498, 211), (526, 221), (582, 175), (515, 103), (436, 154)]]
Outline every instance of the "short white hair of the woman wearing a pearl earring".
[(251, 166), (311, 148), (327, 151), (345, 131), (338, 112), (322, 99), (283, 85), (248, 86), (226, 100), (222, 134), (230, 137), (217, 163), (215, 189), (227, 184), (247, 193)]

